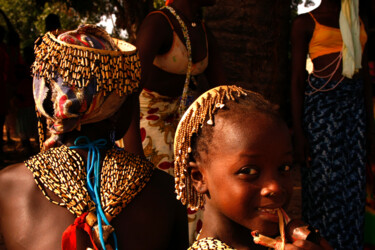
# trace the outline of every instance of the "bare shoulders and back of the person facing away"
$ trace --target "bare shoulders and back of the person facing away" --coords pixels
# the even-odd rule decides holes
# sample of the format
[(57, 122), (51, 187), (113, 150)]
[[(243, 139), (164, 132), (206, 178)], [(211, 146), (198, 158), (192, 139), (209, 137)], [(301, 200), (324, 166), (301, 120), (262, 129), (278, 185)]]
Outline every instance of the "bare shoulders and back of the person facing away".
[[(111, 118), (65, 134), (63, 143), (71, 146), (81, 135), (92, 141), (108, 138), (113, 128), (116, 139), (121, 138), (128, 129), (136, 97), (128, 96)], [(83, 159), (87, 158), (87, 151), (76, 151)], [(61, 202), (50, 190), (47, 193), (52, 200)], [(0, 171), (0, 250), (61, 249), (62, 234), (74, 220), (75, 216), (66, 208), (46, 199), (24, 163)], [(116, 230), (119, 249), (188, 247), (186, 209), (175, 199), (172, 177), (162, 171), (153, 173), (145, 188), (111, 225)], [(93, 248), (88, 234), (78, 230), (77, 249), (88, 247)]]

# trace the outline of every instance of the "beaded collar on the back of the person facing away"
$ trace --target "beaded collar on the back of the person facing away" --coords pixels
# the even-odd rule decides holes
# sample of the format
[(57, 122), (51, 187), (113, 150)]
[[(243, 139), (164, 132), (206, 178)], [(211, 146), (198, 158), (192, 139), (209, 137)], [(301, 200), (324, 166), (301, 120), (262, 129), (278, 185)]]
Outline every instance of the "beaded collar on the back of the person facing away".
[[(75, 150), (65, 145), (51, 148), (26, 160), (25, 165), (33, 173), (36, 184), (50, 202), (66, 207), (77, 217), (90, 212), (86, 220), (91, 222), (87, 223), (91, 227), (98, 224), (100, 237), (101, 220), (106, 223), (116, 217), (145, 187), (154, 169), (151, 162), (140, 156), (115, 148), (107, 150), (99, 170), (100, 187), (97, 199), (100, 200), (100, 210), (105, 217), (104, 219), (100, 216), (99, 222), (92, 214), (96, 214), (97, 206), (87, 189), (85, 163)], [(53, 200), (45, 188), (52, 191), (62, 202)], [(105, 242), (99, 242), (101, 243)]]

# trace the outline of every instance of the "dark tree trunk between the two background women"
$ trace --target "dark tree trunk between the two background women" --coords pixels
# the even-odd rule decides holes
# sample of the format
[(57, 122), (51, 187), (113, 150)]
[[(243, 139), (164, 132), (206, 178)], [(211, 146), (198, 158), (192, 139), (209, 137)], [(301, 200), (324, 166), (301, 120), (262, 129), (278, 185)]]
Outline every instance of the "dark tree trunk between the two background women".
[(205, 20), (230, 83), (258, 91), (285, 111), (289, 93), (290, 0), (217, 0)]

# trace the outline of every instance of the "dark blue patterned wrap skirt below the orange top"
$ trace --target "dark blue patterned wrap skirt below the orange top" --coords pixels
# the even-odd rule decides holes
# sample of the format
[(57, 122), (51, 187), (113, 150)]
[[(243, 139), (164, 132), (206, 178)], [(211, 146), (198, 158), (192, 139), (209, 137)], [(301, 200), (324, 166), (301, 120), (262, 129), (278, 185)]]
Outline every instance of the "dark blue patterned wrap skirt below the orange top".
[[(315, 88), (324, 79), (311, 76)], [(332, 88), (337, 82), (328, 83)], [(306, 93), (313, 92), (306, 84)], [(361, 79), (305, 95), (310, 167), (302, 167), (302, 217), (335, 249), (363, 249), (366, 117)]]

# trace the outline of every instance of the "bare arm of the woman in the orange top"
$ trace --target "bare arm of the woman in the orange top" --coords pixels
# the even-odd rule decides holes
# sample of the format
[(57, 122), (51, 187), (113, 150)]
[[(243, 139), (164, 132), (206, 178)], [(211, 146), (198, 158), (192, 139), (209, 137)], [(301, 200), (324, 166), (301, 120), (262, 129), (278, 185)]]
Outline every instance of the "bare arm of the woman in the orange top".
[(291, 104), (294, 131), (294, 151), (297, 163), (306, 159), (307, 141), (302, 130), (302, 112), (305, 92), (306, 56), (314, 23), (308, 14), (298, 16), (292, 25)]

